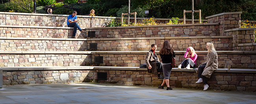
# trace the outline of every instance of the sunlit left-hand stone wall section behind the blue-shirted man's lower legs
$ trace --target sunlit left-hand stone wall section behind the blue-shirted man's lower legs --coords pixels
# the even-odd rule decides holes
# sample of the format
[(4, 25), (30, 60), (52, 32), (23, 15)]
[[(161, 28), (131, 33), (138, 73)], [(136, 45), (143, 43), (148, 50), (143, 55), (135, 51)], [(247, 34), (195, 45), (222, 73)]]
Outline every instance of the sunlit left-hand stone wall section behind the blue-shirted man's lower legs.
[[(26, 38), (71, 38), (74, 28), (59, 27), (2, 27), (0, 26), (1, 37), (26, 37)], [(76, 32), (78, 38), (85, 38), (84, 33)]]

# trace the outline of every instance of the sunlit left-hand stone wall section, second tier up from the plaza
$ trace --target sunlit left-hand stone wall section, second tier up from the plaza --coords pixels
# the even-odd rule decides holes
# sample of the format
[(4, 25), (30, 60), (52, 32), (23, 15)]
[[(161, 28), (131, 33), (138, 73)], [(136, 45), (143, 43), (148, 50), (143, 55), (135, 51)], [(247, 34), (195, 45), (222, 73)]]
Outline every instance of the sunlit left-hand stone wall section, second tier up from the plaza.
[(89, 66), (91, 55), (73, 54), (1, 54), (3, 67)]

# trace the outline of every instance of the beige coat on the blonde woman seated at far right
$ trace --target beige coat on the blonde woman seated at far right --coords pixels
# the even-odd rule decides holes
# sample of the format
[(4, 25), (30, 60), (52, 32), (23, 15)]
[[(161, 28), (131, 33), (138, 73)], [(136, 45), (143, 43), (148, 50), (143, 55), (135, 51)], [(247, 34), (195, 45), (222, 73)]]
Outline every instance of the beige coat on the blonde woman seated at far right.
[[(203, 76), (210, 78), (213, 71), (218, 69), (218, 55), (216, 51), (211, 51), (207, 54), (206, 62), (200, 64), (200, 66), (206, 65), (202, 73)], [(198, 66), (199, 67), (199, 66)]]

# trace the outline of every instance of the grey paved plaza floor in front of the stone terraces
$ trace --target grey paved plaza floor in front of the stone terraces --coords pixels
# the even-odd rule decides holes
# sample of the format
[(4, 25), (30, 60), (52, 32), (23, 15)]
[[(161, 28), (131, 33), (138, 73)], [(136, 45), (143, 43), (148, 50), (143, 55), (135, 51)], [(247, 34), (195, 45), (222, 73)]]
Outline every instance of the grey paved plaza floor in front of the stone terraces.
[(0, 104), (256, 104), (256, 93), (100, 83), (3, 86)]

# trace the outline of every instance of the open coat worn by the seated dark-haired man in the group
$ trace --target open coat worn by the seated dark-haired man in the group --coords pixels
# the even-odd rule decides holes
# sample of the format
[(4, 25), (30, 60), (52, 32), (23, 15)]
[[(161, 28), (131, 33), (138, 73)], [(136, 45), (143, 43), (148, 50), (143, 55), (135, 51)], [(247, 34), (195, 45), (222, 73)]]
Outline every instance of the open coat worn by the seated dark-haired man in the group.
[[(157, 55), (156, 55), (156, 59), (158, 60), (158, 62), (160, 62)], [(151, 69), (148, 69), (148, 73), (157, 73), (156, 60), (155, 60), (154, 53), (153, 53), (152, 49), (150, 49), (150, 51), (148, 51), (148, 53), (147, 53), (146, 64), (147, 64), (147, 69), (148, 69), (149, 65), (152, 66)]]

